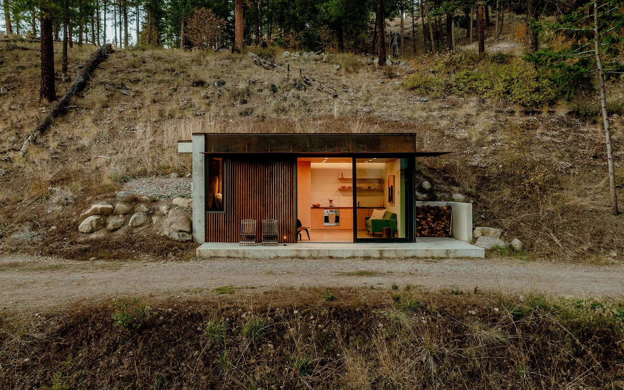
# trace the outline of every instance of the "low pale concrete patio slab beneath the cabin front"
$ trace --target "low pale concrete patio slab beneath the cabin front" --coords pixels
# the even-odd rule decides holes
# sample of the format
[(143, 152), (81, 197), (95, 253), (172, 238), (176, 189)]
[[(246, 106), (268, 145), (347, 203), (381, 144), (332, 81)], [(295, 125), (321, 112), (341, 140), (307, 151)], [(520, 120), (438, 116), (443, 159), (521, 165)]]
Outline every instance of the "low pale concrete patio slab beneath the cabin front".
[(197, 248), (198, 257), (485, 257), (485, 250), (449, 237), (419, 237), (414, 243), (289, 243), (280, 246), (239, 246), (238, 243), (207, 242)]

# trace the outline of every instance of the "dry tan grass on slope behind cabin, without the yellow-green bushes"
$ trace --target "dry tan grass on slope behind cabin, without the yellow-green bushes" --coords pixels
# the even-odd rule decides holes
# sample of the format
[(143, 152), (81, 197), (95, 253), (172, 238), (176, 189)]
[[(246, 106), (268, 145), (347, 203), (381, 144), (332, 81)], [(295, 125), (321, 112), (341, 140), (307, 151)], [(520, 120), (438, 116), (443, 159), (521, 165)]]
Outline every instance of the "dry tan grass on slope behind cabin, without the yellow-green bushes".
[[(491, 49), (513, 51), (514, 45), (501, 41)], [(37, 49), (37, 44), (24, 46)], [(84, 61), (93, 49), (74, 47), (70, 62)], [(279, 50), (266, 52), (290, 66), (287, 75), (261, 69), (241, 54), (139, 48), (110, 56), (72, 102), (76, 108), (57, 120), (26, 158), (19, 158), (23, 137), (47, 104), (38, 101), (39, 68), (32, 67), (37, 52), (2, 53), (2, 82), (9, 94), (0, 109), (9, 115), (0, 117), (0, 169), (6, 171), (0, 176), (0, 216), (9, 233), (32, 219), (42, 222), (49, 188), (69, 190), (75, 207), (82, 207), (84, 197), (112, 192), (127, 177), (190, 172), (190, 158), (177, 154), (176, 141), (189, 139), (191, 132), (411, 132), (422, 150), (455, 152), (421, 163), (437, 192), (459, 187), (474, 201), (475, 225), (504, 228), (508, 238), (518, 236), (537, 257), (605, 261), (611, 251), (624, 253), (620, 218), (608, 215), (604, 206), (603, 135), (595, 125), (567, 114), (565, 102), (555, 107), (555, 114), (535, 115), (496, 112), (512, 107), (467, 95), (421, 102), (394, 84), (404, 80), (405, 75), (396, 74), (400, 69), (376, 70), (353, 54), (334, 57), (332, 62), (341, 64), (336, 71), (333, 63), (303, 63), (283, 59)], [(423, 61), (431, 56), (416, 59)], [(338, 98), (303, 89), (300, 69), (335, 88)], [(76, 67), (69, 71), (76, 76)], [(225, 85), (215, 85), (217, 80)], [(117, 83), (127, 85), (131, 96), (110, 85)], [(68, 86), (59, 83), (59, 95)], [(617, 85), (609, 88), (611, 95), (621, 96)], [(508, 129), (518, 121), (535, 123), (531, 156), (552, 172), (552, 191), (540, 197), (519, 198), (505, 172)], [(613, 117), (612, 127), (618, 153), (622, 120)], [(469, 165), (475, 158), (484, 167)], [(33, 203), (16, 212), (22, 201)]]

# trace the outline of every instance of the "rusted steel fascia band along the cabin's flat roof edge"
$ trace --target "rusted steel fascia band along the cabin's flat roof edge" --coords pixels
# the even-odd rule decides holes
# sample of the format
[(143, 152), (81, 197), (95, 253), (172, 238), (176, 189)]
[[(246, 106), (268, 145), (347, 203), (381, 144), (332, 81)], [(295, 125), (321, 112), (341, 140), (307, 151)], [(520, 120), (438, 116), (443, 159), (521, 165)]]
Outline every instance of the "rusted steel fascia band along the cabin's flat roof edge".
[(204, 135), (205, 153), (286, 154), (286, 155), (371, 155), (405, 154), (437, 156), (450, 152), (424, 152), (417, 149), (416, 134), (259, 134), (193, 133)]

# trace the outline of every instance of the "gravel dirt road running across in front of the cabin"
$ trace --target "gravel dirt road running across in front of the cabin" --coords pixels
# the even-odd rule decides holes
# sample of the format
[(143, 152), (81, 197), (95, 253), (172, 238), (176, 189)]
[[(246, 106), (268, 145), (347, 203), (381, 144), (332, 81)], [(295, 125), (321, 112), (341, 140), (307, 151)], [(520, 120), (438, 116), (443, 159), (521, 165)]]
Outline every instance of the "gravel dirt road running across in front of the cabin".
[(564, 265), (504, 259), (211, 259), (166, 262), (0, 258), (0, 309), (36, 309), (114, 296), (212, 294), (232, 286), (421, 285), (439, 290), (544, 291), (553, 295), (624, 295), (622, 265)]

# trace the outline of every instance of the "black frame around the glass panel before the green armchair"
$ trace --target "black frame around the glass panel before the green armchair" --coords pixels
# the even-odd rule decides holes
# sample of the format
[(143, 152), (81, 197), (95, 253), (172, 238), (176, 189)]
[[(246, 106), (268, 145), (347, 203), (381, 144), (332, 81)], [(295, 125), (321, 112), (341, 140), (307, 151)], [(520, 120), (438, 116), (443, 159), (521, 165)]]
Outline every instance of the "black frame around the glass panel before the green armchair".
[[(371, 155), (371, 158), (374, 155)], [(407, 168), (405, 170), (405, 237), (393, 238), (358, 238), (358, 182), (356, 159), (367, 158), (366, 156), (353, 157), (353, 242), (354, 243), (392, 243), (392, 242), (414, 242), (414, 175), (416, 175), (416, 158), (397, 155), (396, 158), (406, 158)], [(379, 156), (378, 156), (379, 158)], [(383, 158), (395, 158), (383, 157)]]

